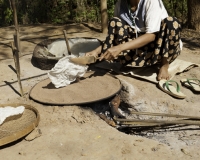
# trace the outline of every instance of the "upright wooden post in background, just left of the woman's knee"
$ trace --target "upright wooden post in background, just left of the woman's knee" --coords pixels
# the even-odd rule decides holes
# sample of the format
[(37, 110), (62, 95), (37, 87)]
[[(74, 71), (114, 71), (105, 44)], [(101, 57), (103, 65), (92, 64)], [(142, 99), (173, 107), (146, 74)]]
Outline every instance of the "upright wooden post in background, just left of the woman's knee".
[(101, 27), (102, 32), (108, 32), (107, 0), (101, 0)]

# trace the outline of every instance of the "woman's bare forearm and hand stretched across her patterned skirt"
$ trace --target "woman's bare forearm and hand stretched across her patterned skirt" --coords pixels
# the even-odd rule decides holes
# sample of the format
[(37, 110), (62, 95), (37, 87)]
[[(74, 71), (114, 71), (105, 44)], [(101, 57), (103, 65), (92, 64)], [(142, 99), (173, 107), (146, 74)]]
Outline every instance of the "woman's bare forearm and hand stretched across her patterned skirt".
[(112, 60), (116, 58), (122, 51), (133, 50), (145, 46), (146, 44), (155, 40), (156, 35), (154, 33), (146, 33), (130, 42), (119, 44), (112, 48), (109, 48), (101, 57), (100, 60)]

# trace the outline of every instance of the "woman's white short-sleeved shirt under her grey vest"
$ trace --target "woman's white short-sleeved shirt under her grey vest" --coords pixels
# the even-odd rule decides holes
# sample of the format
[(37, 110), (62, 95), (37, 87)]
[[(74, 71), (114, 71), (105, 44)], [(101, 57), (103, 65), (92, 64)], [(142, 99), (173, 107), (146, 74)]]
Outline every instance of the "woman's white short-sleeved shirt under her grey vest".
[[(121, 18), (121, 3), (124, 3), (124, 0), (118, 0), (115, 5), (115, 17)], [(168, 17), (168, 13), (162, 0), (140, 0), (135, 16), (137, 17), (135, 23), (138, 32), (154, 33), (160, 30), (161, 21)], [(124, 20), (126, 21), (126, 19)], [(129, 22), (127, 23), (129, 24)], [(131, 27), (135, 28), (135, 26)]]

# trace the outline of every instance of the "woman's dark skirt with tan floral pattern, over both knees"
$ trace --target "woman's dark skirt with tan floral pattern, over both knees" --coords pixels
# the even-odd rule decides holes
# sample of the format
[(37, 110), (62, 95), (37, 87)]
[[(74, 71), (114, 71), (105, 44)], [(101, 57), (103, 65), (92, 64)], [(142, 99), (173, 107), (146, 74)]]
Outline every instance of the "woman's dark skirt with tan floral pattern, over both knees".
[[(159, 64), (163, 57), (168, 62), (173, 62), (180, 54), (180, 31), (181, 27), (178, 20), (174, 17), (165, 18), (160, 26), (160, 31), (156, 33), (153, 42), (138, 48), (137, 50), (123, 51), (117, 61), (122, 65), (134, 67), (146, 67)], [(142, 35), (141, 33), (138, 36)], [(108, 36), (103, 43), (103, 54), (108, 48), (132, 41), (136, 38), (136, 33), (127, 23), (114, 17), (108, 26)]]

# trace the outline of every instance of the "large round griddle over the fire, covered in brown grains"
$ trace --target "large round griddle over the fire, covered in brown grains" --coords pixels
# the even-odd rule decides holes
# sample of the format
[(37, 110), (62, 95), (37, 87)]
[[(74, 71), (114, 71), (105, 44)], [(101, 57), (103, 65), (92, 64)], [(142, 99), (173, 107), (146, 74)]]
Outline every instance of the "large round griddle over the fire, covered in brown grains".
[(30, 91), (33, 100), (52, 105), (78, 105), (110, 98), (121, 90), (121, 82), (110, 74), (87, 72), (78, 82), (55, 88), (50, 79), (36, 84)]

